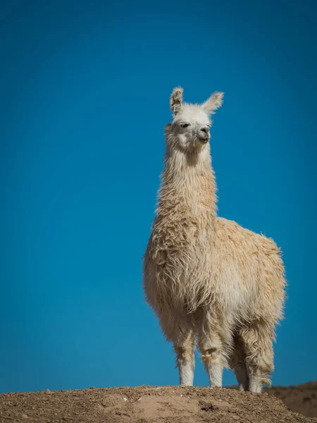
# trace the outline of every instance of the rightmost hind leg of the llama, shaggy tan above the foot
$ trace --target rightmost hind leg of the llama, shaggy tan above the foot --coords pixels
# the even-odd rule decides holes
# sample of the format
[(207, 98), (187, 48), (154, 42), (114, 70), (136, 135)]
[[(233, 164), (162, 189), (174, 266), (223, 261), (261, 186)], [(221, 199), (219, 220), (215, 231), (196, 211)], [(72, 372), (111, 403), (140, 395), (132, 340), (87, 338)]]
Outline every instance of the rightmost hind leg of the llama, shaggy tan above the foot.
[(246, 353), (249, 391), (261, 392), (263, 384), (271, 384), (270, 375), (273, 371), (273, 331), (261, 327), (242, 329), (240, 336)]

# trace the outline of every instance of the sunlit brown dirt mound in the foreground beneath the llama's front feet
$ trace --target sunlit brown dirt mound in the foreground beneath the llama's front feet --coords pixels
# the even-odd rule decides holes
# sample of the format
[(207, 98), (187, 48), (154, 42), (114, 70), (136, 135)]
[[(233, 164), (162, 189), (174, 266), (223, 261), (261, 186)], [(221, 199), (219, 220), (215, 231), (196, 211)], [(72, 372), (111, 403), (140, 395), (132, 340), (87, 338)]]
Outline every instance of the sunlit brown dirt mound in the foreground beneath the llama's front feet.
[(317, 422), (266, 393), (185, 386), (6, 393), (0, 422), (198, 423)]

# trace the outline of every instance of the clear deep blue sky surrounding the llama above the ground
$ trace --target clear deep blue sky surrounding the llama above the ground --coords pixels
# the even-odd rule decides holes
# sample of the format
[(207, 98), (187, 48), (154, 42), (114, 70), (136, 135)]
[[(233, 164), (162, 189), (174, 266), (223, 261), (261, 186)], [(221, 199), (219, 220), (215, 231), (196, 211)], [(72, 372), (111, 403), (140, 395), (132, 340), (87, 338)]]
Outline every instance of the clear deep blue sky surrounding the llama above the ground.
[(273, 383), (317, 379), (316, 7), (1, 5), (0, 392), (178, 383), (141, 272), (176, 85), (225, 92), (219, 214), (284, 251)]

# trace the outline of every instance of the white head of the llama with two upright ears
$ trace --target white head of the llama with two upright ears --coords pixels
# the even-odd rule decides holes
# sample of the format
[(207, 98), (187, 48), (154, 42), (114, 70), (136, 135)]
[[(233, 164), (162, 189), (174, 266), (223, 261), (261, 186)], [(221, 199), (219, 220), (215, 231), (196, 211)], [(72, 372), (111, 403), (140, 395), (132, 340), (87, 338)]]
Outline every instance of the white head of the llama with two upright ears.
[(211, 114), (223, 104), (223, 92), (214, 92), (203, 104), (182, 102), (182, 88), (170, 95), (173, 123), (166, 125), (168, 142), (182, 150), (202, 149), (210, 140)]

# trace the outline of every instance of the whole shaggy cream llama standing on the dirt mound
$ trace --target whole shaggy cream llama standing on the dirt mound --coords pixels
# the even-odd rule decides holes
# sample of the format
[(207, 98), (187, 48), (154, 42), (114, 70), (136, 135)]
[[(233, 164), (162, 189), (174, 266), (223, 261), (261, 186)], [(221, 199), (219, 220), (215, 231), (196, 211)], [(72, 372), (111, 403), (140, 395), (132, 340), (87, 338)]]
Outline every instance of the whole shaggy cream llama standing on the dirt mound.
[(280, 249), (271, 238), (217, 216), (211, 166), (211, 114), (204, 104), (170, 96), (161, 188), (144, 255), (144, 292), (174, 346), (180, 384), (192, 386), (196, 341), (210, 386), (234, 369), (241, 391), (261, 392), (273, 370), (275, 325), (285, 295)]

